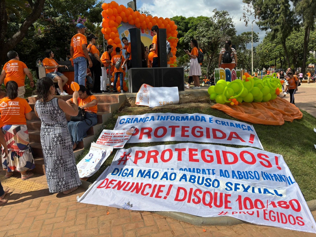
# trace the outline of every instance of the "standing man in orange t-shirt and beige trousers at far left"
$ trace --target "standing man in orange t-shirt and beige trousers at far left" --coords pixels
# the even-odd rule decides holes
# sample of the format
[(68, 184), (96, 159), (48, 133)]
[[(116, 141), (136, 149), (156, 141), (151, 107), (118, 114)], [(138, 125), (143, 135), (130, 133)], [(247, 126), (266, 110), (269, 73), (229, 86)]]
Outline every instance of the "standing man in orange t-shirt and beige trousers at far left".
[(4, 80), (4, 85), (9, 81), (15, 81), (18, 84), (18, 97), (24, 99), (25, 94), (25, 75), (30, 79), (30, 86), (34, 87), (33, 76), (28, 70), (25, 63), (20, 61), (19, 55), (15, 51), (9, 51), (7, 54), (9, 61), (4, 64), (3, 70), (0, 75), (0, 84)]

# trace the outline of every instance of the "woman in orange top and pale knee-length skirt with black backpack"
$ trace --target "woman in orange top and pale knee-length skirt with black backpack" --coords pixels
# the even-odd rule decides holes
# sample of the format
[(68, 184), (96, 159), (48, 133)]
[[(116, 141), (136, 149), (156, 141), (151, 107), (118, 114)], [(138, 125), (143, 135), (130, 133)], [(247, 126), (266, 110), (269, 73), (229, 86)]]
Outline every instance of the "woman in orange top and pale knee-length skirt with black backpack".
[(200, 87), (200, 78), (202, 75), (201, 65), (198, 62), (198, 44), (197, 40), (192, 39), (190, 42), (190, 46), (192, 48), (191, 52), (189, 50), (185, 50), (185, 53), (190, 57), (190, 73), (189, 76), (193, 77), (194, 87), (192, 89), (201, 89)]

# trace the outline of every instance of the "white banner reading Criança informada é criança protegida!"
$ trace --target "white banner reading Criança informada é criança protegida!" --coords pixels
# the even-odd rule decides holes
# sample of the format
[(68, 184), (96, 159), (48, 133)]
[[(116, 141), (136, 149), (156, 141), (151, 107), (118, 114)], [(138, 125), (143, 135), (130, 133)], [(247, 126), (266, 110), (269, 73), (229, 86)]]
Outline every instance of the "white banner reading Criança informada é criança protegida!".
[(120, 116), (114, 130), (135, 132), (127, 143), (192, 141), (251, 146), (263, 149), (252, 125), (208, 114), (147, 113)]

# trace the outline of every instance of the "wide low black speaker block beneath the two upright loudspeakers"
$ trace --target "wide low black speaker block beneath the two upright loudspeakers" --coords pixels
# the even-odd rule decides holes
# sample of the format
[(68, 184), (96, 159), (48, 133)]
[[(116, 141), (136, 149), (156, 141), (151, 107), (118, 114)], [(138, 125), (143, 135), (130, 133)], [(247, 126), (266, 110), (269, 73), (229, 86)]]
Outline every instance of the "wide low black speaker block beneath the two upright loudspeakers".
[(131, 68), (128, 70), (129, 88), (137, 93), (145, 83), (153, 87), (178, 87), (184, 91), (184, 68)]

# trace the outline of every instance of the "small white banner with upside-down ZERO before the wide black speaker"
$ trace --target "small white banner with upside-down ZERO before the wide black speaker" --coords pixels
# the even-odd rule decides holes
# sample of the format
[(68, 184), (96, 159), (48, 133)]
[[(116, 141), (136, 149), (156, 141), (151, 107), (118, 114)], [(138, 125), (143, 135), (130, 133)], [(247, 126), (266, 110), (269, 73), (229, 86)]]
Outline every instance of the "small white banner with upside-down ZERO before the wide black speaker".
[(178, 87), (149, 87), (149, 107), (179, 104)]

